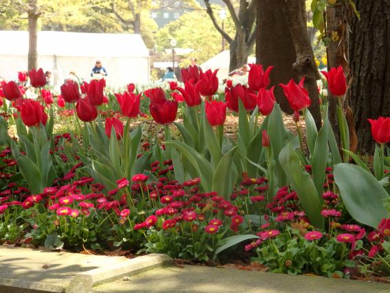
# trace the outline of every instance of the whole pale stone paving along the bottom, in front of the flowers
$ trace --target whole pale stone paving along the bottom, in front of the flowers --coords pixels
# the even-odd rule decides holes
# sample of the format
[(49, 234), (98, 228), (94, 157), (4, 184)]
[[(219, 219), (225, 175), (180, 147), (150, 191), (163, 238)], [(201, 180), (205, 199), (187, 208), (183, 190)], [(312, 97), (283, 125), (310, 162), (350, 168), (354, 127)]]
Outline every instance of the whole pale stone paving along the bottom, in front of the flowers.
[[(91, 286), (79, 283), (80, 285), (73, 287), (71, 292), (390, 293), (390, 285), (385, 283), (345, 281), (321, 276), (288, 276), (195, 265), (184, 265), (183, 268), (173, 265), (156, 268), (159, 257), (154, 254), (156, 257), (153, 258), (152, 255), (129, 260), (124, 257), (0, 246), (0, 292), (65, 292), (66, 288), (71, 290), (69, 283), (74, 282), (77, 276), (91, 274), (92, 290)], [(141, 270), (140, 262), (148, 265), (148, 261), (148, 268), (153, 269), (144, 272), (144, 269)], [(151, 265), (150, 261), (153, 262)], [(102, 273), (102, 270), (106, 273)], [(104, 281), (105, 275), (107, 278)], [(110, 279), (108, 275), (115, 277)], [(97, 276), (103, 281), (99, 281)]]

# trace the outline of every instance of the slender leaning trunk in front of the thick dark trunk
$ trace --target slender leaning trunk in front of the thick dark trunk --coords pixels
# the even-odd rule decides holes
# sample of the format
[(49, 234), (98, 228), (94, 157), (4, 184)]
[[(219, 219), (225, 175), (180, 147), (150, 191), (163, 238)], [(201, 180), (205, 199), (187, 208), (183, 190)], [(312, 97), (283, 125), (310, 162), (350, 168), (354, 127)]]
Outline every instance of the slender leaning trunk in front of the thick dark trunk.
[(284, 0), (281, 6), (297, 53), (297, 61), (292, 65), (292, 68), (297, 72), (299, 79), (306, 78), (305, 87), (312, 100), (312, 105), (309, 107), (310, 113), (316, 122), (317, 129), (320, 129), (322, 121), (317, 91), (317, 80), (320, 76), (308, 38), (306, 2), (305, 0)]

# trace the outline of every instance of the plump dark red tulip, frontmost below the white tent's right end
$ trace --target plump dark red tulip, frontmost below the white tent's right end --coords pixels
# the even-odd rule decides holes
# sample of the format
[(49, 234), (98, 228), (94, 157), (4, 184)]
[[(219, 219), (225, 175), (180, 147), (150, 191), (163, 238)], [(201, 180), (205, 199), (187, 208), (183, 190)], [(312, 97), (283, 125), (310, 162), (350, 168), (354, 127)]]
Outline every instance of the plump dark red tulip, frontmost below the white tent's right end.
[(170, 124), (176, 120), (177, 101), (176, 100), (156, 100), (149, 106), (150, 115), (159, 124)]

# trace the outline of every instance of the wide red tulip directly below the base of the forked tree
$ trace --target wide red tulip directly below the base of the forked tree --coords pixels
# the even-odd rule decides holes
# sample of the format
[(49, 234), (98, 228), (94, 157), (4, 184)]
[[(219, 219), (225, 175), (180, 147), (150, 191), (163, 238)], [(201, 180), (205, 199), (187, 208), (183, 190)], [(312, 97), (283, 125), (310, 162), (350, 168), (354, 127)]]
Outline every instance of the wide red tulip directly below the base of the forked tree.
[(253, 91), (249, 90), (244, 85), (240, 83), (235, 85), (234, 87), (225, 88), (225, 100), (227, 102), (227, 107), (231, 109), (231, 111), (238, 112), (238, 99), (242, 100), (242, 104), (246, 111), (252, 111), (256, 107), (255, 94)]

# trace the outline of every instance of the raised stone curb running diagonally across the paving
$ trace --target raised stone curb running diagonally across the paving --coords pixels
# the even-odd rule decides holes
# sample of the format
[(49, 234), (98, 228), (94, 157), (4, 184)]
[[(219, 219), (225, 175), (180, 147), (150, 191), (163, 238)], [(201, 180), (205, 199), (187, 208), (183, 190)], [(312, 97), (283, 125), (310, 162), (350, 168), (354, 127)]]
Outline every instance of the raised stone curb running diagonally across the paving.
[(165, 254), (148, 254), (143, 257), (129, 259), (124, 263), (108, 265), (76, 274), (71, 279), (66, 289), (67, 293), (88, 293), (92, 287), (106, 282), (111, 282), (122, 276), (133, 276), (154, 268), (161, 268), (172, 263), (172, 259)]

